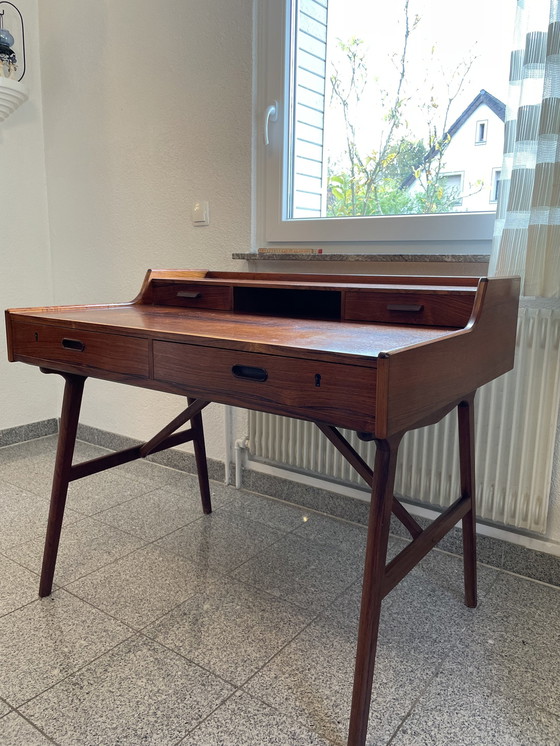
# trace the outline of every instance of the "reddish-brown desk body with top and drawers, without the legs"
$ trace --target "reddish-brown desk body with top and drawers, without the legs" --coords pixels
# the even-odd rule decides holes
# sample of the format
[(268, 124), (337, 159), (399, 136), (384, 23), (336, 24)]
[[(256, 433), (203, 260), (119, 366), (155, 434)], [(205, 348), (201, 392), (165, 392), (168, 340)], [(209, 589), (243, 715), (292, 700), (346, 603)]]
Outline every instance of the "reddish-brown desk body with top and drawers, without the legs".
[(125, 304), (11, 309), (10, 360), (386, 437), (513, 365), (518, 278), (148, 272)]

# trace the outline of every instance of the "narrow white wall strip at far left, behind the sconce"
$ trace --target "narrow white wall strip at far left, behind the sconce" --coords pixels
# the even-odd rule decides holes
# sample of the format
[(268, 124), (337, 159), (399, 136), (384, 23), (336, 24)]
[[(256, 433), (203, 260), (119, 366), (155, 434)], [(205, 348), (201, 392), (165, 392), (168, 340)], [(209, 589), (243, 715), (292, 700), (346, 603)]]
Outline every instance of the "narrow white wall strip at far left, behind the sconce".
[[(2, 308), (53, 301), (41, 110), (37, 0), (21, 0), (25, 18), (29, 101), (0, 124), (0, 304)], [(8, 16), (6, 28), (14, 16)], [(20, 35), (19, 26), (11, 29)], [(21, 38), (21, 37), (20, 37)], [(51, 377), (8, 363), (0, 324), (0, 430), (55, 417)]]

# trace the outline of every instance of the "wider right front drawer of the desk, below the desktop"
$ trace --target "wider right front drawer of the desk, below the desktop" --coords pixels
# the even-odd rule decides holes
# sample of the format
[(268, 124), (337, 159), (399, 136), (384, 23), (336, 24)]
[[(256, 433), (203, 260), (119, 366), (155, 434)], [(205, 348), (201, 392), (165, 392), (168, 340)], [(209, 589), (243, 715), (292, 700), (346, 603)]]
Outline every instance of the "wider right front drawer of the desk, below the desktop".
[(154, 342), (154, 378), (195, 396), (371, 431), (375, 368)]

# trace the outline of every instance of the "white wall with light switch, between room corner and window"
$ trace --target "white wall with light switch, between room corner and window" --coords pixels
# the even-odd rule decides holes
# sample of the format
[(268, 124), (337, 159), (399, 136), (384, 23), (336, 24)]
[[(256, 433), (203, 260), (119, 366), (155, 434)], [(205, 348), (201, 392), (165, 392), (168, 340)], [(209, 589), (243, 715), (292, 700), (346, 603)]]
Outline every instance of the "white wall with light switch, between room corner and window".
[[(39, 10), (57, 303), (123, 301), (148, 268), (250, 248), (252, 0), (50, 0)], [(210, 225), (194, 228), (195, 199)], [(177, 397), (89, 381), (82, 421), (150, 437)], [(223, 413), (205, 413), (225, 457)]]

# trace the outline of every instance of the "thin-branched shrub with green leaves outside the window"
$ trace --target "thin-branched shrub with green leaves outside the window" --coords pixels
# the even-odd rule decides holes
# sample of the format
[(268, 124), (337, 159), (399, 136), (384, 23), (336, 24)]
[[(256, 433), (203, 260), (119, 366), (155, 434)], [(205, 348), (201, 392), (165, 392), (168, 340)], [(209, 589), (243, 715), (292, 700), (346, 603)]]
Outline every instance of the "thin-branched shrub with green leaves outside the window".
[(447, 133), (449, 110), (470, 63), (453, 71), (456, 90), (449, 93), (443, 105), (433, 95), (419, 104), (426, 121), (426, 142), (411, 139), (404, 114), (408, 103), (404, 91), (409, 37), (420, 19), (410, 18), (409, 0), (404, 0), (403, 17), (402, 49), (393, 56), (397, 73), (395, 88), (378, 90), (386, 126), (378, 149), (367, 154), (361, 151), (356, 136), (356, 121), (368, 79), (364, 42), (358, 38), (338, 42), (344, 71), (334, 70), (330, 82), (332, 99), (341, 107), (344, 118), (347, 165), (329, 164), (329, 217), (451, 212), (460, 197), (457, 190), (446, 184), (444, 156), (451, 139)]

